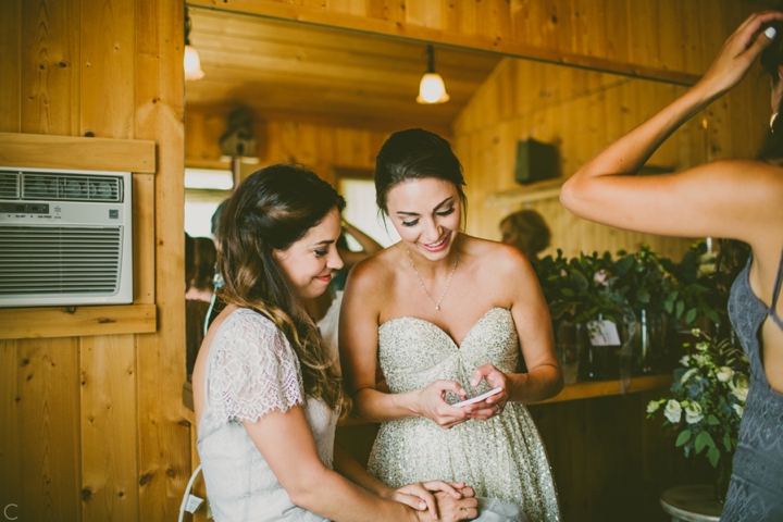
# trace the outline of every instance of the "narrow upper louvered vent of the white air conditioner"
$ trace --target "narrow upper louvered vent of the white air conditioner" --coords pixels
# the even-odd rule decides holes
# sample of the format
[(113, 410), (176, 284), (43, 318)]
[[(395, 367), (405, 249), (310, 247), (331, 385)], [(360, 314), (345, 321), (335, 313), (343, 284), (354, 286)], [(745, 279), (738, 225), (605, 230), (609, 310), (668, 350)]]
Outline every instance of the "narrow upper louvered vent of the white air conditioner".
[(122, 178), (23, 172), (22, 199), (121, 202)]

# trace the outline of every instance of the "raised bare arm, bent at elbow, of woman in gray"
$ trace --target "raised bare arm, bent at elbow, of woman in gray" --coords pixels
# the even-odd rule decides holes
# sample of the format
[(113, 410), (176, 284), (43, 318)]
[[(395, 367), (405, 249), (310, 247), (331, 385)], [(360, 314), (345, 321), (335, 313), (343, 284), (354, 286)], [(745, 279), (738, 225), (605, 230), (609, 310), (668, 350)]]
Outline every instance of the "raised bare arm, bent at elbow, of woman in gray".
[(773, 20), (783, 13), (747, 18), (701, 80), (582, 166), (563, 185), (561, 202), (581, 217), (631, 231), (757, 240), (754, 223), (769, 220), (783, 194), (775, 167), (723, 160), (667, 176), (634, 174), (685, 121), (739, 83), (774, 37), (774, 29), (759, 34)]

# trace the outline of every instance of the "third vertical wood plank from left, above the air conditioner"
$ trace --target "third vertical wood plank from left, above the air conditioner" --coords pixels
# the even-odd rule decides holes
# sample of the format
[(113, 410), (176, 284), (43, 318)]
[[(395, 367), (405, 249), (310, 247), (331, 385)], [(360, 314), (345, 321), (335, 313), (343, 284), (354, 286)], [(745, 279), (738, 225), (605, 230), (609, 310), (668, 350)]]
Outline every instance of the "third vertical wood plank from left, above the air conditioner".
[[(142, 1), (142, 0), (139, 0)], [(134, 138), (135, 0), (80, 0), (79, 134)]]

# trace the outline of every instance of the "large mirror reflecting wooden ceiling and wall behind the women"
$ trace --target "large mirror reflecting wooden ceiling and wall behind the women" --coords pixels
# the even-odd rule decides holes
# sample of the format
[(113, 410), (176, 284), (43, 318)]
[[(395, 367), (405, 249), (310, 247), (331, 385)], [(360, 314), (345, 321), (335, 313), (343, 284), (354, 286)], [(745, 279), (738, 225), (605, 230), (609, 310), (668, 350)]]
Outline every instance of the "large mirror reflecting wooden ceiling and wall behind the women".
[[(374, 158), (390, 133), (423, 127), (447, 137), (462, 162), (469, 234), (499, 240), (505, 216), (532, 209), (551, 232), (540, 257), (557, 249), (568, 257), (614, 252), (647, 243), (680, 259), (688, 248), (687, 239), (580, 220), (558, 199), (560, 185), (581, 164), (683, 92), (682, 86), (434, 46), (434, 66), (450, 100), (426, 105), (415, 100), (428, 65), (425, 44), (203, 8), (188, 12), (189, 39), (204, 72), (202, 79), (186, 83), (186, 231), (191, 236), (210, 236), (210, 217), (231, 194), (232, 175), (241, 179), (265, 165), (294, 161), (350, 194), (346, 217), (387, 246), (396, 238), (388, 234), (391, 227), (378, 224), (374, 210)], [(247, 124), (245, 150), (254, 153), (232, 161), (225, 144), (237, 113)], [(706, 117), (678, 130), (647, 171), (672, 172), (706, 161)], [(519, 144), (529, 139), (556, 151), (556, 177), (515, 182)], [(314, 303), (313, 315), (323, 315), (328, 301), (324, 296)]]

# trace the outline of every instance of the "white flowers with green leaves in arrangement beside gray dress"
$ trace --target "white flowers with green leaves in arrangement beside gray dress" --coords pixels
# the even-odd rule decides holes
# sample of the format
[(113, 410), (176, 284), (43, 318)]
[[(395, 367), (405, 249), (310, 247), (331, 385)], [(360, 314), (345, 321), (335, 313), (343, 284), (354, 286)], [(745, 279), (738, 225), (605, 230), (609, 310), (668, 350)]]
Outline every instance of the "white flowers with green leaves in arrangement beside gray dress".
[(723, 499), (731, 477), (739, 421), (749, 389), (749, 362), (742, 349), (694, 330), (695, 346), (674, 370), (672, 396), (651, 400), (647, 418), (663, 413), (663, 428), (679, 431), (685, 457), (704, 456), (718, 469), (716, 495)]

